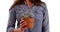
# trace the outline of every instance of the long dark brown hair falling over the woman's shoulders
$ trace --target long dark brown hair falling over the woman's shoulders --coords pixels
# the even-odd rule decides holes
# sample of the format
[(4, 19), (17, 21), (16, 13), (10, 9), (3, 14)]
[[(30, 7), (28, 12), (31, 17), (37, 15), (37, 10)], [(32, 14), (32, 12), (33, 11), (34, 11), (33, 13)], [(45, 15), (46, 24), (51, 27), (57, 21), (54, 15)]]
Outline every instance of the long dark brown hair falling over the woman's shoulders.
[[(10, 9), (14, 8), (16, 5), (20, 5), (20, 4), (24, 4), (25, 0), (15, 0), (13, 5), (10, 7)], [(43, 2), (41, 0), (29, 0), (31, 3), (34, 3), (34, 5), (39, 6), (40, 4), (42, 4)], [(9, 9), (9, 10), (10, 10)]]

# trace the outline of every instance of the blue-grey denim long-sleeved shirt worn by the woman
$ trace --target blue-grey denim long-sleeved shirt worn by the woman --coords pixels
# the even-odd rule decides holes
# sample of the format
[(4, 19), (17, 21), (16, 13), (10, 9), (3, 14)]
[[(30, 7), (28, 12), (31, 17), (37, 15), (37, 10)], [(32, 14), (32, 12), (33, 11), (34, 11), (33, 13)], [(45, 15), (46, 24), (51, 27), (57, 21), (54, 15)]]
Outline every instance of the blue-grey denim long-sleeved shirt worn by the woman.
[(25, 11), (31, 12), (34, 15), (34, 27), (32, 29), (26, 29), (24, 32), (49, 32), (49, 17), (46, 4), (36, 6), (33, 4), (32, 8), (29, 8), (27, 4), (16, 5), (9, 11), (9, 19), (6, 32), (12, 32), (15, 28), (17, 20), (17, 28), (20, 27), (20, 21)]

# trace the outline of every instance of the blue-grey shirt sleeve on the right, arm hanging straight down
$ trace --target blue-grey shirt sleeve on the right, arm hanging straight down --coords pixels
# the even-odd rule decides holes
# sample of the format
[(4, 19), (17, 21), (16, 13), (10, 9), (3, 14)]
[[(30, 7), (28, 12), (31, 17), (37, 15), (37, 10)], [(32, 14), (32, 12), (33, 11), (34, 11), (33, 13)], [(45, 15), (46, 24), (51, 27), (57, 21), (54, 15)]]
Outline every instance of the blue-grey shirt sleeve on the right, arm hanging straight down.
[(46, 4), (43, 5), (43, 22), (42, 22), (42, 32), (49, 32), (49, 17)]

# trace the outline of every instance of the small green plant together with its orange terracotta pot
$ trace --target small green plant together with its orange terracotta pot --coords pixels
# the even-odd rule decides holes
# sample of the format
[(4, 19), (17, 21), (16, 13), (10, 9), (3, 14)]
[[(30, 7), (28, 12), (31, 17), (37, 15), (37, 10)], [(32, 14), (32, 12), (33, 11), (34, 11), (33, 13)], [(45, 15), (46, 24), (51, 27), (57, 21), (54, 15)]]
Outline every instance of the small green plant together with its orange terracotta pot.
[(28, 23), (26, 26), (27, 28), (29, 28), (29, 29), (33, 28), (33, 26), (34, 26), (34, 15), (32, 12), (28, 12), (28, 11), (24, 12), (21, 20), (22, 19)]

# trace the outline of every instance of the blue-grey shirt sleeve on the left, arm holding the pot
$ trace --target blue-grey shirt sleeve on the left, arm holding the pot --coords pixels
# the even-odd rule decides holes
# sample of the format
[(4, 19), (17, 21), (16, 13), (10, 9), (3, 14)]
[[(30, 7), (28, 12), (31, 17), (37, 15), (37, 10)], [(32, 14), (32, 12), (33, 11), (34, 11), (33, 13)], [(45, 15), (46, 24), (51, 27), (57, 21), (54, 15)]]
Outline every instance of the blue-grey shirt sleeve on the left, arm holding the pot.
[(8, 19), (8, 25), (7, 25), (7, 31), (6, 32), (12, 32), (15, 28), (15, 22), (16, 22), (16, 15), (15, 15), (15, 9), (11, 9), (9, 11), (9, 19)]

